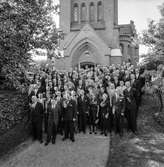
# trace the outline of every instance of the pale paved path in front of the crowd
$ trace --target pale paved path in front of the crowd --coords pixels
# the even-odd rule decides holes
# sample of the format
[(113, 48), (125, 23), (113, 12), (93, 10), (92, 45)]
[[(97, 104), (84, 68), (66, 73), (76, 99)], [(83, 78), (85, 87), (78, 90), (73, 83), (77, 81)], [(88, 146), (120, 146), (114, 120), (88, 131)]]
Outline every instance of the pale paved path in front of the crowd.
[[(22, 146), (23, 147), (23, 146)], [(21, 151), (20, 151), (21, 150)], [(104, 167), (109, 151), (109, 137), (90, 134), (76, 135), (75, 143), (63, 142), (58, 136), (56, 144), (34, 142), (18, 149), (1, 167)]]

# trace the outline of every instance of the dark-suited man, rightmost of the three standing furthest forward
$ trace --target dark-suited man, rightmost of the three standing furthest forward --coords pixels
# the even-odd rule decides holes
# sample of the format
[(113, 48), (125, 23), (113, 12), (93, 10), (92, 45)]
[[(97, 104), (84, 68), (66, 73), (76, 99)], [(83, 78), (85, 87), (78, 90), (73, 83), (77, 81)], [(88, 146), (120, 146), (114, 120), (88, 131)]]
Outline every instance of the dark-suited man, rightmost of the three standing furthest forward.
[(63, 100), (63, 121), (64, 121), (64, 138), (63, 141), (70, 137), (72, 142), (74, 138), (74, 121), (76, 118), (76, 102), (71, 98), (70, 92), (64, 97)]

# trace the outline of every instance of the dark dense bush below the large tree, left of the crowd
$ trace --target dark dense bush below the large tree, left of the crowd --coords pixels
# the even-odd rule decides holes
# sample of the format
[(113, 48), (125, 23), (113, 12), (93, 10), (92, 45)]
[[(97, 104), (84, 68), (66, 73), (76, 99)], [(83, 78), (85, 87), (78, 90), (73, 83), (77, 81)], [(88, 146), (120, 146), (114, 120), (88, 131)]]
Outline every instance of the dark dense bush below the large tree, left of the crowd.
[(19, 124), (28, 113), (26, 94), (0, 91), (0, 134)]

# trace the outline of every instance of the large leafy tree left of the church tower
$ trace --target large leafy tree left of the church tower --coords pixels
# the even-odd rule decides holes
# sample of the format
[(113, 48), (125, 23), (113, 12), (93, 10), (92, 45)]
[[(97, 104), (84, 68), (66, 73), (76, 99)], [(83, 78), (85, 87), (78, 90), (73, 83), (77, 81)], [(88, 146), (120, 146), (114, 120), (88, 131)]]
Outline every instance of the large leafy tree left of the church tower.
[(58, 6), (53, 0), (8, 0), (0, 3), (0, 72), (18, 87), (29, 67), (34, 48), (50, 50), (57, 43), (51, 17)]

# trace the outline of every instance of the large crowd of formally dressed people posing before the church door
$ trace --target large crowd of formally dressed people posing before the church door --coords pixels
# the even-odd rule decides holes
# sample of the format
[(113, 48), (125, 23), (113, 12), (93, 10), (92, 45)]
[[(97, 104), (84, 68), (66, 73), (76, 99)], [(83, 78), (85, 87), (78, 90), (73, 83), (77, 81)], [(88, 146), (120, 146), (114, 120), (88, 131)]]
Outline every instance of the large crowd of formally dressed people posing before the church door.
[(29, 86), (30, 120), (34, 140), (55, 144), (75, 141), (76, 133), (107, 136), (124, 129), (137, 133), (144, 69), (123, 65), (95, 66), (72, 72), (40, 70)]

